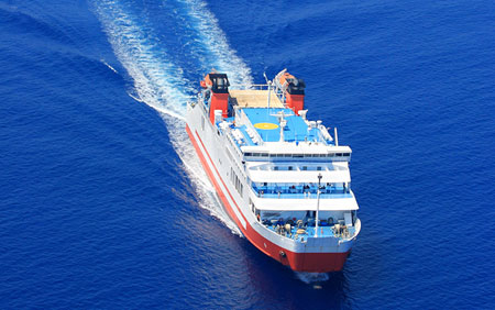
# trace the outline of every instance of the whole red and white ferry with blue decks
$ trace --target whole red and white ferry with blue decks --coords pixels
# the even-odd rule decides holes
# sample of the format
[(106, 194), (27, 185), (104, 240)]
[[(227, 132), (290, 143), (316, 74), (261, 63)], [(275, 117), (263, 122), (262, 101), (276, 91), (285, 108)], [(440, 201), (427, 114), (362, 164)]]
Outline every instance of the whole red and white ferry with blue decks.
[(304, 80), (284, 69), (266, 85), (230, 86), (212, 71), (200, 87), (186, 131), (242, 234), (293, 270), (341, 270), (361, 230), (352, 151), (306, 118)]

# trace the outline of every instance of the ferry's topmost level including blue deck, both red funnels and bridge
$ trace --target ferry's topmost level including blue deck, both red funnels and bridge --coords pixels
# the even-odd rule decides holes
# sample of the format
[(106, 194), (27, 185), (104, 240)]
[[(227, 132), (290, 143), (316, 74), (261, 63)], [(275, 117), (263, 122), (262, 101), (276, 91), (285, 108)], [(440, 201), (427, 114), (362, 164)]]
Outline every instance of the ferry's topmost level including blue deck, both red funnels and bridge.
[(350, 160), (336, 129), (332, 136), (322, 121), (306, 118), (302, 80), (283, 70), (267, 85), (240, 89), (226, 75), (208, 77), (199, 103), (241, 160)]

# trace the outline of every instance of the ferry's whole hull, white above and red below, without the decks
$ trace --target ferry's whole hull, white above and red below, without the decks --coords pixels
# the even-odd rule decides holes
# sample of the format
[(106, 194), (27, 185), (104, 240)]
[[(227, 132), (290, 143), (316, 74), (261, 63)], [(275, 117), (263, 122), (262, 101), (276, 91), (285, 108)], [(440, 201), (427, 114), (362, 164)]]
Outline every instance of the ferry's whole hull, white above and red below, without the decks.
[[(297, 272), (326, 273), (342, 269), (361, 229), (359, 219), (354, 224), (355, 233), (349, 239), (307, 236), (301, 241), (270, 230), (253, 212), (251, 202), (261, 198), (248, 184), (242, 153), (234, 146), (231, 137), (221, 133), (209, 121), (208, 112), (200, 102), (188, 104), (186, 121), (190, 141), (223, 207), (254, 246)], [(235, 187), (231, 181), (232, 171), (239, 176), (242, 186), (238, 184)]]

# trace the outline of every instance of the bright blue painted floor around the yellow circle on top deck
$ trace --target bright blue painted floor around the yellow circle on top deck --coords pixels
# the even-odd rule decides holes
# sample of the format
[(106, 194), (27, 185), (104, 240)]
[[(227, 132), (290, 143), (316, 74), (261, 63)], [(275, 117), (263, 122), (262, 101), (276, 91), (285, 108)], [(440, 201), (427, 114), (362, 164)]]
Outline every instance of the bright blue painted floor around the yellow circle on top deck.
[(287, 124), (284, 129), (284, 140), (288, 142), (301, 142), (308, 141), (321, 141), (318, 129), (309, 129), (301, 117), (295, 115), (290, 109), (260, 109), (260, 108), (246, 108), (242, 109), (251, 123), (255, 126), (258, 123), (272, 123), (275, 124), (275, 129), (258, 129), (255, 126), (257, 133), (264, 142), (278, 142), (280, 140), (280, 128), (277, 118), (278, 112), (283, 111), (286, 117)]

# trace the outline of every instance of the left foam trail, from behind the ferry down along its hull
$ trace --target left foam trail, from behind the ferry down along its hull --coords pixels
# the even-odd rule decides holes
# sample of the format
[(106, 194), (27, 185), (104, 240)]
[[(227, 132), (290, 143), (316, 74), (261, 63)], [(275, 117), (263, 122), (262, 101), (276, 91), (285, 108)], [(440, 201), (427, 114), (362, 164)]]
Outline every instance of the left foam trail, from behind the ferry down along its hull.
[[(119, 1), (95, 1), (94, 7), (116, 56), (133, 79), (135, 95), (128, 92), (129, 96), (161, 113), (170, 133), (170, 142), (198, 192), (199, 204), (220, 219), (233, 233), (241, 235), (218, 201), (215, 189), (188, 142), (184, 120), (187, 101), (196, 88), (184, 78), (183, 68), (174, 64), (173, 57), (153, 33), (152, 25), (134, 16)], [(234, 56), (231, 49), (228, 52)], [(235, 62), (241, 60), (235, 58)], [(217, 68), (231, 74), (223, 66), (219, 65)]]

